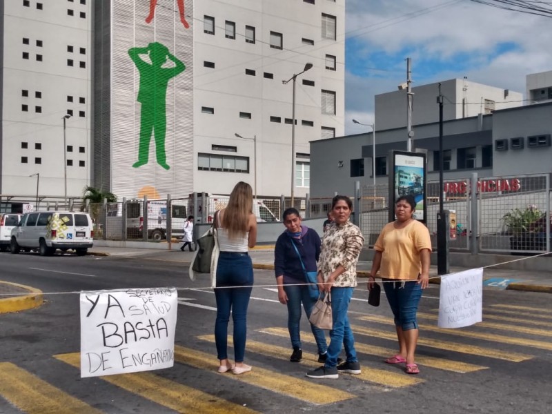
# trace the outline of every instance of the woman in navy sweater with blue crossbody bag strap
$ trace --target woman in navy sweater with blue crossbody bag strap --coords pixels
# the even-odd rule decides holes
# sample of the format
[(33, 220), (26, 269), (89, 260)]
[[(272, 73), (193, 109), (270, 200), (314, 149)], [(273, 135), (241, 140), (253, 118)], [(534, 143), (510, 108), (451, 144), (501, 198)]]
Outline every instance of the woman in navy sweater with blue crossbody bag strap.
[[(274, 269), (278, 285), (278, 300), (288, 306), (288, 331), (293, 346), (290, 362), (299, 362), (303, 357), (299, 323), (301, 304), (306, 317), (316, 299), (311, 297), (310, 286), (306, 285), (305, 272), (315, 272), (320, 255), (320, 237), (312, 228), (301, 224), (301, 216), (295, 208), (287, 208), (282, 215), (286, 231), (282, 233), (274, 250)], [(311, 331), (318, 348), (318, 362), (326, 361), (326, 335), (322, 329), (311, 324)]]

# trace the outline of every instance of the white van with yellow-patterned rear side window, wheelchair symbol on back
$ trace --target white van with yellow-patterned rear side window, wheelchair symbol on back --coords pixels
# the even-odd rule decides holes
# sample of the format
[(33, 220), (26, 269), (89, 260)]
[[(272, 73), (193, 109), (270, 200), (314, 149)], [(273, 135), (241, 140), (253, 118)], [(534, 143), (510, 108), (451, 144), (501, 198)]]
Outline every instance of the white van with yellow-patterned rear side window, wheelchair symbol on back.
[(41, 256), (51, 256), (56, 249), (72, 249), (79, 256), (92, 247), (94, 230), (88, 213), (43, 211), (27, 213), (12, 228), (10, 251), (38, 249)]

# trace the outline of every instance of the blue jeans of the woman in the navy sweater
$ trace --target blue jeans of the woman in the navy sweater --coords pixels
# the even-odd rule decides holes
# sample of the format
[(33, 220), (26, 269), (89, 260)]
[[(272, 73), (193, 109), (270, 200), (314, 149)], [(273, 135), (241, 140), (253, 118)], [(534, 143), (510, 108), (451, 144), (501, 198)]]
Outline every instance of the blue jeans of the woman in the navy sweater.
[[(301, 304), (305, 308), (307, 319), (311, 317), (315, 300), (311, 299), (311, 293), (308, 286), (288, 286), (284, 285), (284, 291), (288, 295), (288, 331), (293, 348), (302, 348), (301, 333), (299, 322), (301, 322)], [(318, 353), (326, 353), (326, 335), (324, 331), (311, 324), (311, 331), (315, 337)]]

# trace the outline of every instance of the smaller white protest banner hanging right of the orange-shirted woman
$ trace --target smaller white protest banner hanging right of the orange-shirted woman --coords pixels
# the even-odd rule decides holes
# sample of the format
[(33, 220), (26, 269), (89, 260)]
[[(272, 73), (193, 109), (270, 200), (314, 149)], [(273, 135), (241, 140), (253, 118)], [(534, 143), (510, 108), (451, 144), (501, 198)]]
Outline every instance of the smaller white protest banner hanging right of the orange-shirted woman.
[(462, 328), (482, 321), (483, 269), (470, 269), (441, 277), (440, 328)]

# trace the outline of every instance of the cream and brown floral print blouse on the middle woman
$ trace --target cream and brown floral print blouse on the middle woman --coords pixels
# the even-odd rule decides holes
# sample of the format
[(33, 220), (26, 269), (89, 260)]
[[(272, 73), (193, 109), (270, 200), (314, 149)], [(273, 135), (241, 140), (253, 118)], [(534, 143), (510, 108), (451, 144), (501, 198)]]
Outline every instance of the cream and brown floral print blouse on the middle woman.
[(322, 239), (322, 251), (318, 259), (318, 270), (322, 272), (324, 282), (339, 265), (342, 265), (345, 272), (335, 279), (333, 287), (357, 286), (357, 262), (363, 245), (362, 232), (351, 221), (329, 225)]

